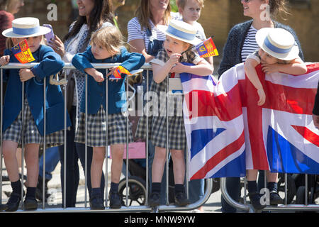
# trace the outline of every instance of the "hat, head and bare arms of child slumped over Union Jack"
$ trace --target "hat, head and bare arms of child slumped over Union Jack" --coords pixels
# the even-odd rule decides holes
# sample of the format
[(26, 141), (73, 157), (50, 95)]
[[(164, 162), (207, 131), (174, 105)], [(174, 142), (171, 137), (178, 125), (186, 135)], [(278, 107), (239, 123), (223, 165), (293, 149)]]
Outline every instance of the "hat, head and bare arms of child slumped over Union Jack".
[(245, 73), (257, 89), (257, 104), (262, 106), (266, 101), (266, 94), (255, 70), (257, 65), (261, 63), (265, 73), (284, 72), (294, 75), (305, 74), (307, 67), (298, 56), (298, 45), (289, 31), (283, 28), (262, 28), (256, 33), (256, 41), (259, 50), (248, 55)]

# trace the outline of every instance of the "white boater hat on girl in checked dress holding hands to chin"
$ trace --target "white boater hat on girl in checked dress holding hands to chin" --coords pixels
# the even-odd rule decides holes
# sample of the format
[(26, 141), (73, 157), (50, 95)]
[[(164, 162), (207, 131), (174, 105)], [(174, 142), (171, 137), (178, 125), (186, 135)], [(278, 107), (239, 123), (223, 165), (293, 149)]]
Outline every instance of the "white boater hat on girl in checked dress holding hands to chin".
[(162, 30), (166, 35), (186, 43), (191, 43), (192, 45), (201, 43), (201, 40), (196, 38), (196, 28), (191, 26), (189, 23), (185, 23), (184, 21), (172, 20), (169, 22), (168, 27), (164, 26), (159, 29)]

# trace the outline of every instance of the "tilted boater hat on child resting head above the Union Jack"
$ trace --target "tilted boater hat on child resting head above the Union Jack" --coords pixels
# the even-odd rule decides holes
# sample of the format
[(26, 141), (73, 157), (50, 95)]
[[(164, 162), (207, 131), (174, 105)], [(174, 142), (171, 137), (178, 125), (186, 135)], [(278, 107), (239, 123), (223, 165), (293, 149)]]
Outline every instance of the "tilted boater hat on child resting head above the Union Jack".
[(280, 60), (298, 58), (299, 48), (293, 35), (284, 28), (262, 28), (256, 33), (259, 48)]

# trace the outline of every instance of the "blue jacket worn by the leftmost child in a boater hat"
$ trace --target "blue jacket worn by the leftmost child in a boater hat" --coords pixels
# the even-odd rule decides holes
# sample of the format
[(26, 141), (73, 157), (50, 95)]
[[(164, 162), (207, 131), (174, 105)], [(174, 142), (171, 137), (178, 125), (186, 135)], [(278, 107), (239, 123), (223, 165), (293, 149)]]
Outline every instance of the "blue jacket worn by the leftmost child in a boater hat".
[[(4, 51), (4, 55), (11, 55), (11, 50)], [(43, 119), (43, 80), (46, 79), (46, 128), (45, 134), (54, 133), (64, 128), (64, 98), (60, 86), (49, 83), (50, 75), (60, 72), (65, 65), (60, 55), (57, 55), (52, 48), (40, 45), (37, 51), (32, 53), (35, 60), (40, 64), (31, 68), (35, 77), (25, 82), (25, 94), (28, 99), (30, 111), (35, 124), (44, 135)], [(11, 63), (18, 63), (14, 55), (10, 57)], [(21, 111), (22, 104), (22, 82), (19, 77), (19, 70), (4, 70), (4, 82), (7, 82), (4, 98), (4, 124), (2, 131), (6, 131)], [(71, 125), (67, 114), (67, 126)]]

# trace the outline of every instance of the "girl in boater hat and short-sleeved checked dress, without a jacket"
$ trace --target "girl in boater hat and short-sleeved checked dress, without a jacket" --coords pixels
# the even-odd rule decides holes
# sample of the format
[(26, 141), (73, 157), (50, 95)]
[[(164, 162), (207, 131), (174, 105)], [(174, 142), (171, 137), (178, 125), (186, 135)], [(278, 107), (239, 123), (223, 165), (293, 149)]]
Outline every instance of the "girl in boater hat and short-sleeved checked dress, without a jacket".
[[(183, 21), (172, 20), (169, 22), (169, 26), (164, 33), (166, 33), (164, 47), (159, 50), (157, 57), (151, 61), (154, 77), (150, 91), (157, 94), (159, 103), (155, 101), (153, 106), (160, 104), (160, 113), (163, 113), (163, 109), (161, 108), (162, 106), (165, 106), (163, 105), (165, 103), (165, 96), (162, 96), (161, 93), (167, 92), (167, 79), (170, 79), (173, 74), (176, 79), (179, 78), (179, 73), (182, 72), (189, 72), (200, 76), (206, 76), (213, 73), (211, 65), (206, 60), (199, 57), (197, 52), (194, 52), (194, 48), (188, 50), (191, 45), (201, 43), (201, 40), (196, 38), (196, 28)], [(182, 53), (183, 55), (181, 55)], [(189, 62), (194, 65), (183, 65), (181, 62)], [(177, 87), (179, 86), (177, 85)], [(172, 154), (174, 163), (175, 204), (177, 206), (186, 206), (189, 204), (189, 199), (187, 199), (184, 189), (184, 150), (186, 148), (186, 134), (183, 116), (177, 116), (177, 112), (179, 112), (178, 109), (181, 110), (181, 102), (179, 102), (177, 106), (174, 106), (171, 103), (167, 105), (172, 110), (170, 112), (174, 113), (174, 116), (169, 116), (168, 119), (168, 149)], [(165, 109), (164, 113), (166, 113)], [(155, 145), (155, 158), (152, 164), (152, 192), (149, 199), (149, 205), (152, 207), (159, 206), (160, 201), (160, 182), (162, 182), (162, 175), (166, 162), (166, 119), (166, 115), (162, 116), (159, 114), (156, 116), (156, 114), (153, 113), (150, 121), (150, 140), (152, 140), (152, 143)], [(138, 138), (145, 138), (145, 124), (146, 123), (140, 122), (136, 132)]]

